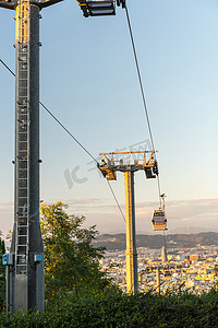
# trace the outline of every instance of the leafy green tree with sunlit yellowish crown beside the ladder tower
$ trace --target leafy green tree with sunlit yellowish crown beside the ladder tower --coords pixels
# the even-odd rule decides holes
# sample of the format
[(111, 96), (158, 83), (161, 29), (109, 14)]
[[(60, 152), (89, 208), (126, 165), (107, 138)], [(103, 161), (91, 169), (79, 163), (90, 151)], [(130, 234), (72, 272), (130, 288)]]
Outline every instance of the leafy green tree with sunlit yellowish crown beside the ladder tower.
[(82, 227), (85, 216), (69, 215), (66, 208), (61, 201), (40, 204), (46, 298), (58, 292), (75, 292), (78, 297), (82, 290), (98, 291), (109, 285), (98, 263), (105, 249), (90, 244), (98, 234), (96, 226)]

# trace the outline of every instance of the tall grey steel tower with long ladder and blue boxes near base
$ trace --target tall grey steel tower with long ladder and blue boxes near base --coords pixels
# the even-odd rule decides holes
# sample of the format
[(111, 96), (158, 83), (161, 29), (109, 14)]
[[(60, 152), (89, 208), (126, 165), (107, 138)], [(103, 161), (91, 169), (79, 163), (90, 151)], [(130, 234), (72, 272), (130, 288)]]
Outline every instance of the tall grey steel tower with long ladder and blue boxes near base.
[(39, 11), (61, 0), (0, 1), (16, 11), (14, 226), (5, 255), (7, 312), (44, 311), (39, 225)]

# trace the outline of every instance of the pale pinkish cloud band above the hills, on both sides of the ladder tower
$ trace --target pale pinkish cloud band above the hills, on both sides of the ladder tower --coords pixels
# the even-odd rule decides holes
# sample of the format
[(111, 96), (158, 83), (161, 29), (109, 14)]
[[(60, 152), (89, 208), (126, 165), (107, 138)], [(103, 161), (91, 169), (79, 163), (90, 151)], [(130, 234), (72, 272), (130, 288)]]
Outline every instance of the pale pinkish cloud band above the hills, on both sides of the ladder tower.
[[(55, 201), (45, 201), (53, 203)], [(111, 199), (85, 198), (62, 200), (69, 204), (69, 214), (85, 215), (86, 226), (96, 224), (100, 233), (124, 233), (125, 223)], [(152, 213), (157, 202), (136, 203), (136, 231), (153, 234)], [(121, 203), (125, 214), (125, 206)], [(168, 234), (218, 231), (218, 199), (193, 199), (166, 202)], [(0, 231), (7, 235), (13, 227), (13, 202), (0, 202)]]

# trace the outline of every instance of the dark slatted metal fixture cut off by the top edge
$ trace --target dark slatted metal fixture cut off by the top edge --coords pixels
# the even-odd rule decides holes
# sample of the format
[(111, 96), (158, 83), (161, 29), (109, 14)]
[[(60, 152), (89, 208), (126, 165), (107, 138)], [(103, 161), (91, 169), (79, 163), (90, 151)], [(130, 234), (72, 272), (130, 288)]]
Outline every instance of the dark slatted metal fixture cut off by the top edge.
[(114, 0), (77, 0), (85, 17), (116, 14)]

